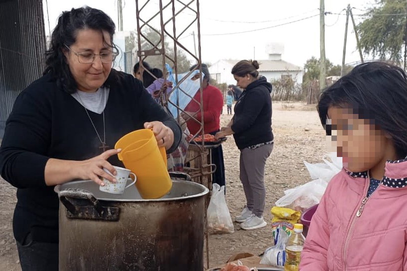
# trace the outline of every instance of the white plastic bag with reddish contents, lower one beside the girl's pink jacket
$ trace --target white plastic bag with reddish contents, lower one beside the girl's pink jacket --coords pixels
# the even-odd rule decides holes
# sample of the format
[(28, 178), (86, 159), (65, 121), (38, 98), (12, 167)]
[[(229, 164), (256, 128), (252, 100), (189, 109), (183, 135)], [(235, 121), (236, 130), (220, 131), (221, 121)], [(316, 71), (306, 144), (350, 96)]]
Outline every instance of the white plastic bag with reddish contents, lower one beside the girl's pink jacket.
[(314, 179), (295, 188), (285, 190), (285, 195), (278, 199), (276, 206), (301, 211), (318, 204), (328, 183), (321, 179)]

